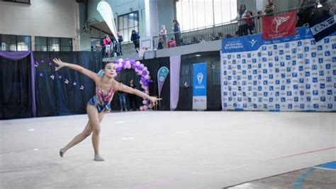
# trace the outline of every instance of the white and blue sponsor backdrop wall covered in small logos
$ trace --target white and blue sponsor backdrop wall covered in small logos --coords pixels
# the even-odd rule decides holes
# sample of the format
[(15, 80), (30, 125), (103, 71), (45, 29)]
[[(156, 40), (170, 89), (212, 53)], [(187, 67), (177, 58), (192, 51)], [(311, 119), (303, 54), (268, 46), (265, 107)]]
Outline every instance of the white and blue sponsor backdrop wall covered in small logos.
[(224, 110), (336, 110), (336, 33), (316, 43), (310, 28), (298, 28), (293, 37), (225, 38), (222, 46)]

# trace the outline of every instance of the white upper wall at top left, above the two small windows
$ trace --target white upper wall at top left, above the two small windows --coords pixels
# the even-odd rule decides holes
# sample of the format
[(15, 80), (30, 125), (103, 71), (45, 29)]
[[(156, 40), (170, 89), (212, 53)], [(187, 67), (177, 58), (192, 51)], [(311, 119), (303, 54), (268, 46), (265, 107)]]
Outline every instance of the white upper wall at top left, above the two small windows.
[(74, 0), (30, 0), (30, 5), (0, 1), (1, 34), (73, 38), (76, 50), (78, 27)]

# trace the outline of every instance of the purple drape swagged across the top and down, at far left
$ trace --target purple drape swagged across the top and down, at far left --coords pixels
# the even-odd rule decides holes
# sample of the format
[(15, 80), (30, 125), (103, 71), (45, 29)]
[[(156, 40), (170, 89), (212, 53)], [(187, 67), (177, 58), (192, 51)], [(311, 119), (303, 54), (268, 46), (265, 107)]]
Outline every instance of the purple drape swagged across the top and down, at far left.
[(34, 67), (34, 56), (32, 51), (1, 51), (0, 57), (9, 59), (9, 60), (20, 60), (30, 55), (30, 72), (31, 72), (31, 97), (32, 97), (32, 109), (33, 116), (36, 117), (36, 102), (35, 102), (35, 67)]

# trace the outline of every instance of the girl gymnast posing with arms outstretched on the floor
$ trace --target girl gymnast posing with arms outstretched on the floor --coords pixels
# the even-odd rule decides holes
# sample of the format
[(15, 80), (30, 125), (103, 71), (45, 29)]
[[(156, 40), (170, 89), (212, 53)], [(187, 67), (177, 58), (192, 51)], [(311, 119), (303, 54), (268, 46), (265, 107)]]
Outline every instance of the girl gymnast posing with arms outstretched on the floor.
[(89, 117), (89, 121), (87, 122), (84, 131), (75, 136), (74, 139), (72, 139), (72, 141), (67, 144), (67, 146), (60, 148), (61, 157), (63, 157), (63, 155), (65, 154), (65, 152), (67, 152), (69, 148), (72, 148), (72, 146), (79, 144), (92, 133), (92, 144), (94, 146), (94, 161), (104, 161), (99, 153), (99, 134), (101, 131), (100, 123), (103, 119), (104, 114), (111, 111), (111, 100), (113, 98), (114, 92), (120, 90), (133, 95), (137, 95), (144, 99), (149, 99), (153, 106), (155, 106), (157, 104), (157, 101), (160, 100), (157, 97), (150, 97), (140, 90), (135, 90), (131, 87), (116, 82), (116, 80), (113, 79), (113, 77), (116, 76), (116, 64), (114, 63), (108, 62), (103, 65), (103, 76), (101, 77), (95, 72), (91, 72), (90, 70), (87, 70), (80, 65), (64, 63), (62, 62), (62, 60), (57, 58), (54, 58), (53, 62), (58, 65), (56, 70), (67, 67), (72, 70), (81, 72), (82, 74), (90, 77), (91, 80), (94, 80), (94, 82), (96, 83), (96, 95), (89, 100), (86, 106), (86, 112)]

